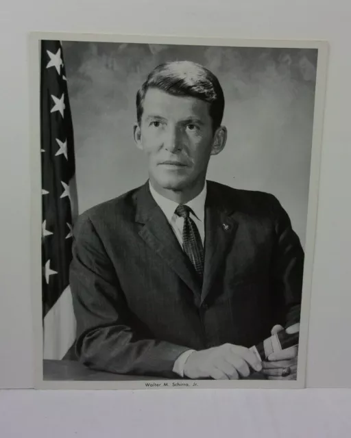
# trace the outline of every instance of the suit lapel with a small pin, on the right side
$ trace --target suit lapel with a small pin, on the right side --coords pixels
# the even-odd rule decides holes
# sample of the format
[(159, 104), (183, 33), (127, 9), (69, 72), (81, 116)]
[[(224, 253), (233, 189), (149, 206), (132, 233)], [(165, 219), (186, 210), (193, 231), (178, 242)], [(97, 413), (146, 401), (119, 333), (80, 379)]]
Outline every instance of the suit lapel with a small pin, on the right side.
[[(230, 208), (231, 207), (231, 208)], [(205, 206), (205, 262), (201, 302), (203, 302), (233, 245), (238, 222), (230, 215), (232, 205), (226, 205), (221, 193), (214, 193), (208, 181), (208, 195)]]

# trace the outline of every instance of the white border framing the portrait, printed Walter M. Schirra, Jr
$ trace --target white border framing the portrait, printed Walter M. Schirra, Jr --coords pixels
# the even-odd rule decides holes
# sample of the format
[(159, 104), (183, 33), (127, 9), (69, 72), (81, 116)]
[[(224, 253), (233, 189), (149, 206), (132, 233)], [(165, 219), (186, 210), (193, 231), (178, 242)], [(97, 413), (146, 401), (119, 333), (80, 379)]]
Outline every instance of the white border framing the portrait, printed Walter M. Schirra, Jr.
[[(43, 324), (41, 296), (41, 164), (40, 164), (40, 41), (61, 40), (77, 42), (125, 42), (141, 44), (177, 44), (222, 47), (267, 47), (291, 49), (317, 49), (317, 77), (313, 116), (311, 172), (308, 190), (304, 279), (298, 347), (298, 377), (296, 381), (189, 381), (170, 379), (155, 381), (47, 381), (43, 376)], [(32, 32), (28, 38), (29, 52), (29, 123), (30, 123), (30, 178), (31, 178), (31, 293), (34, 332), (34, 388), (36, 389), (298, 389), (306, 384), (308, 354), (308, 319), (311, 304), (313, 259), (317, 228), (319, 175), (322, 156), (322, 133), (326, 76), (328, 68), (328, 42), (322, 40), (265, 40), (186, 36), (149, 36), (128, 34), (81, 34), (67, 32)], [(40, 291), (40, 293), (39, 293)], [(156, 385), (150, 386), (155, 383)], [(165, 384), (168, 385), (165, 385)], [(189, 386), (173, 386), (186, 383)], [(193, 385), (196, 383), (196, 385)]]

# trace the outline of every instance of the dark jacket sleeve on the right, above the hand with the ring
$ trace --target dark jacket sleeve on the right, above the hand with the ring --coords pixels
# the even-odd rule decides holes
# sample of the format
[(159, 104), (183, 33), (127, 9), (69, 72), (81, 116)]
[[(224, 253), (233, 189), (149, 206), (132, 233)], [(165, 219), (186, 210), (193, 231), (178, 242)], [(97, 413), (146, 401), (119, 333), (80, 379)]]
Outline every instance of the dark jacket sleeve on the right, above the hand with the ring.
[(276, 324), (291, 326), (300, 322), (304, 250), (291, 227), (291, 220), (274, 198), (275, 239), (273, 281)]

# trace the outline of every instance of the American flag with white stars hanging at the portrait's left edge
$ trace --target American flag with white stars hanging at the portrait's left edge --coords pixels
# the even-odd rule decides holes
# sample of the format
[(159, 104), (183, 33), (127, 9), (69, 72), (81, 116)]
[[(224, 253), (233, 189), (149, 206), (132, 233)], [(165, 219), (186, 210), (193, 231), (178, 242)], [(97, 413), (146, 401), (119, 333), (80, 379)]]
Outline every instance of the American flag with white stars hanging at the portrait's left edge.
[(69, 288), (73, 125), (61, 42), (43, 40), (40, 56), (43, 348), (44, 359), (62, 359), (75, 339)]

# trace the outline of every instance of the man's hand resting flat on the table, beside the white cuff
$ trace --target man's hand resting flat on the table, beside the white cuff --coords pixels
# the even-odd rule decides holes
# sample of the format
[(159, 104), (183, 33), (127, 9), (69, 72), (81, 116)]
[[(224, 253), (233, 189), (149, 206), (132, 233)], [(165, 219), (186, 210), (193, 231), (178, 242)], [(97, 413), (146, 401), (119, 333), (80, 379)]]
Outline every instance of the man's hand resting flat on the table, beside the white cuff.
[(248, 348), (223, 344), (191, 353), (184, 364), (189, 378), (238, 379), (250, 375), (250, 367), (261, 371), (262, 365)]

